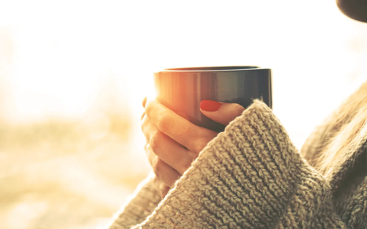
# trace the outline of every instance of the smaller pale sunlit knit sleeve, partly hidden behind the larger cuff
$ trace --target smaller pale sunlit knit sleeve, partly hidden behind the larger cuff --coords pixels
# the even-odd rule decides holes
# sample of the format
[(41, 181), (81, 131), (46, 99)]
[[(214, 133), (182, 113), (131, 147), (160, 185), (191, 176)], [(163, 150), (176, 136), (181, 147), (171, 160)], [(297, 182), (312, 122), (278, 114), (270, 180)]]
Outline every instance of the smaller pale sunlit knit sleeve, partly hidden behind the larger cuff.
[(153, 188), (153, 175), (150, 174), (138, 185), (127, 204), (113, 217), (109, 229), (131, 228), (143, 222), (161, 199), (159, 192)]

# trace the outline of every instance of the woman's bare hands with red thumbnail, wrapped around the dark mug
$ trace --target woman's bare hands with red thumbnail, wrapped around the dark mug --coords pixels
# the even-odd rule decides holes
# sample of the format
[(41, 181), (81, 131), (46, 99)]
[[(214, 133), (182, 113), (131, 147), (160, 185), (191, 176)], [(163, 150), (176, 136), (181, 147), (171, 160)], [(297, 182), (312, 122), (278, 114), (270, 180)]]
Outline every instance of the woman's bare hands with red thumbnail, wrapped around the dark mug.
[[(162, 197), (190, 167), (200, 151), (217, 132), (194, 125), (158, 100), (143, 100), (145, 112), (141, 128), (146, 138), (145, 152), (156, 175)], [(244, 108), (236, 103), (203, 100), (200, 111), (216, 122), (228, 125)], [(162, 185), (163, 188), (162, 188)]]

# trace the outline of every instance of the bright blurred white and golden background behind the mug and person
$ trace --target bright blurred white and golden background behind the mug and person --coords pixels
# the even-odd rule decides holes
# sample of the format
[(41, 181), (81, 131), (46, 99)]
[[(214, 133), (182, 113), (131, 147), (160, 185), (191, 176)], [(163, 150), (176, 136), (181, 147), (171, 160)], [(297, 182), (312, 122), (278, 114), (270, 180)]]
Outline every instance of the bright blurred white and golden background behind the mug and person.
[(149, 173), (152, 72), (273, 69), (300, 148), (367, 80), (367, 24), (330, 1), (0, 1), (0, 228), (102, 228)]

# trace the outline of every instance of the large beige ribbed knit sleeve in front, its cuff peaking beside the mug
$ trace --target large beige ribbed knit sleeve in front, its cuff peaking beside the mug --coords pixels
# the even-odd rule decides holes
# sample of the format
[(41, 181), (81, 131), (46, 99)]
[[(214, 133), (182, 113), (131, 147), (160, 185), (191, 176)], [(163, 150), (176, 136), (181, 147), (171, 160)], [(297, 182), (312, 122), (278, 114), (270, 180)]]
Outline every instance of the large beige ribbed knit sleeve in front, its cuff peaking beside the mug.
[(345, 228), (330, 187), (254, 101), (134, 228)]

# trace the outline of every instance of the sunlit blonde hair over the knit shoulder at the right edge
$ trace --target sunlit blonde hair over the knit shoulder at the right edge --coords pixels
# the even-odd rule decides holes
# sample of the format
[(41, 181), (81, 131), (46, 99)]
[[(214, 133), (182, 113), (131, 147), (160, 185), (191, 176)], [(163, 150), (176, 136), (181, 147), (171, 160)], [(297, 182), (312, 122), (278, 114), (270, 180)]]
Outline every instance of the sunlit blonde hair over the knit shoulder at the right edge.
[(321, 173), (352, 158), (367, 140), (367, 82), (306, 140), (302, 154)]

